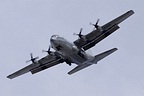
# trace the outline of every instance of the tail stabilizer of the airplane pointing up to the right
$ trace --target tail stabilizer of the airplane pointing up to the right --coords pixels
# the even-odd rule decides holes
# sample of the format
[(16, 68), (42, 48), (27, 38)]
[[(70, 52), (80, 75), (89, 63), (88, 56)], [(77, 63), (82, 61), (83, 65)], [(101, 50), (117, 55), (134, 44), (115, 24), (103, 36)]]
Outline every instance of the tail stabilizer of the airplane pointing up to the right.
[(94, 62), (97, 63), (98, 61), (100, 61), (101, 59), (103, 59), (103, 58), (107, 57), (108, 55), (112, 54), (116, 50), (118, 50), (118, 49), (117, 48), (113, 48), (113, 49), (105, 51), (105, 52), (103, 52), (101, 54), (96, 55)]

